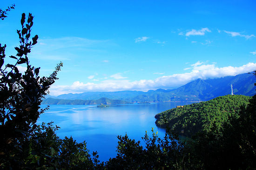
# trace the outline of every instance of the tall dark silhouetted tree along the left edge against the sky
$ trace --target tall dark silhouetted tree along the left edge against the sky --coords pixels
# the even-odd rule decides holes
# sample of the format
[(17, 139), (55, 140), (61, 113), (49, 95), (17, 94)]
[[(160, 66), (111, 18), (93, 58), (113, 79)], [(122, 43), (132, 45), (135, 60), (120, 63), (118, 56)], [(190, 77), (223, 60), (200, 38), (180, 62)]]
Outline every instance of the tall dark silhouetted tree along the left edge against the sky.
[[(4, 19), (6, 11), (0, 10), (0, 19)], [(22, 13), (20, 20), (21, 30), (17, 30), (20, 46), (15, 47), (17, 54), (9, 56), (13, 64), (4, 66), (6, 45), (0, 44), (0, 167), (12, 165), (21, 168), (26, 163), (27, 152), (31, 151), (31, 139), (36, 138), (36, 131), (40, 131), (35, 123), (39, 115), (48, 108), (40, 109), (44, 96), (49, 87), (58, 79), (57, 73), (62, 63), (58, 64), (49, 77), (40, 77), (40, 67), (35, 68), (29, 64), (28, 54), (37, 43), (38, 35), (30, 40), (33, 26), (31, 13), (27, 16)], [(26, 65), (27, 70), (22, 74), (18, 65)], [(54, 132), (55, 129), (48, 128)], [(36, 134), (36, 135), (35, 135)], [(26, 150), (27, 149), (27, 150)]]

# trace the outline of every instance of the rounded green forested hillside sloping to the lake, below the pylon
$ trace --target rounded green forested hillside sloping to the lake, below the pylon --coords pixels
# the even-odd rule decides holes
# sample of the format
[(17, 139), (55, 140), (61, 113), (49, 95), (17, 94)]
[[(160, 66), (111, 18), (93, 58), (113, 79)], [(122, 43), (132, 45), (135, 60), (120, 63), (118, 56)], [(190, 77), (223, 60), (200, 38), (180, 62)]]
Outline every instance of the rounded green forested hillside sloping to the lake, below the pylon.
[(213, 125), (222, 127), (231, 116), (237, 116), (241, 106), (248, 105), (249, 99), (243, 95), (226, 95), (206, 102), (177, 106), (155, 115), (155, 123), (191, 137), (198, 131), (210, 131)]

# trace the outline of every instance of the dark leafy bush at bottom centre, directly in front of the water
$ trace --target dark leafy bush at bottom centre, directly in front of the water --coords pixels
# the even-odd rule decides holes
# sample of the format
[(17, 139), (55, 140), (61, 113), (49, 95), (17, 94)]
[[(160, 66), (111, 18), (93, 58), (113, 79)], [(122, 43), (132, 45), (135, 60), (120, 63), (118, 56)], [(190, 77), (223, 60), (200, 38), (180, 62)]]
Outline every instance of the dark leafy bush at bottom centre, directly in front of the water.
[(107, 169), (119, 170), (192, 170), (199, 169), (190, 161), (189, 153), (185, 150), (185, 144), (179, 141), (176, 135), (166, 134), (163, 139), (155, 134), (142, 137), (146, 146), (143, 148), (140, 141), (135, 142), (118, 136), (118, 154), (115, 158), (110, 158), (106, 164)]

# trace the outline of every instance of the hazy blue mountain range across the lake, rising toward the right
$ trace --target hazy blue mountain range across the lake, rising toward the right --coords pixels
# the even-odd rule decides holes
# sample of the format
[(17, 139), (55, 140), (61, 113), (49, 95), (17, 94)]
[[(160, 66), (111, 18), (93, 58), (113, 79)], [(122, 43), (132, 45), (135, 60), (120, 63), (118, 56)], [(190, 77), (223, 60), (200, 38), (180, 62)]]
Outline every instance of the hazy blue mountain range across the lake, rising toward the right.
[[(59, 103), (63, 104), (72, 103), (71, 100), (83, 100), (83, 102), (84, 100), (88, 100), (87, 102), (90, 101), (89, 103), (93, 103), (92, 100), (97, 100), (99, 98), (111, 98), (112, 100), (121, 100), (123, 102), (207, 101), (218, 96), (230, 94), (231, 84), (233, 85), (234, 94), (253, 96), (256, 90), (254, 86), (255, 82), (256, 78), (253, 74), (244, 73), (223, 78), (199, 78), (177, 89), (170, 90), (157, 89), (155, 91), (149, 90), (148, 92), (84, 92), (79, 94), (69, 93), (62, 94), (57, 97), (48, 97), (51, 97), (51, 100), (53, 100), (53, 98), (68, 100), (68, 102), (65, 102), (64, 100), (58, 100)], [(50, 101), (50, 99), (46, 99), (44, 103), (46, 103), (46, 101)], [(47, 104), (53, 104), (52, 102)], [(97, 105), (98, 104), (99, 103), (97, 103)]]

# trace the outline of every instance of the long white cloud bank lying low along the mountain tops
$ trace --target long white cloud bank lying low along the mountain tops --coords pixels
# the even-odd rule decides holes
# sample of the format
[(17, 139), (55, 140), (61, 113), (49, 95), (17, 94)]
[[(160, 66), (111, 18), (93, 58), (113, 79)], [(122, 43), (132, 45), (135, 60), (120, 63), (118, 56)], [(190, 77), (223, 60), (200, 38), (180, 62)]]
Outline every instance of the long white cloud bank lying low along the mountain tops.
[[(72, 85), (53, 85), (50, 89), (51, 95), (60, 95), (65, 93), (81, 92), (113, 92), (122, 90), (141, 90), (150, 89), (172, 89), (185, 85), (197, 78), (221, 78), (225, 76), (235, 76), (237, 74), (251, 72), (256, 70), (256, 63), (248, 63), (239, 67), (226, 66), (216, 67), (215, 64), (203, 65), (203, 62), (196, 62), (190, 72), (162, 76), (154, 80), (141, 79), (130, 81), (123, 79), (103, 80), (99, 83), (74, 82)], [(112, 78), (123, 78), (120, 73), (112, 75)]]

